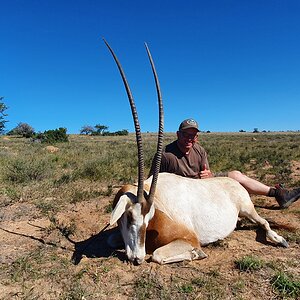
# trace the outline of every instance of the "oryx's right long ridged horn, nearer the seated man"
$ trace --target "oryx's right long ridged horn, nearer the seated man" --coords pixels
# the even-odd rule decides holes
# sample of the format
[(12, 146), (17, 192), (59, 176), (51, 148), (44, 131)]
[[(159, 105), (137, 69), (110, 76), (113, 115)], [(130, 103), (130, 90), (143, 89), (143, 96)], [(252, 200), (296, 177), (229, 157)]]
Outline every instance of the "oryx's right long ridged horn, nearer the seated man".
[(163, 110), (163, 102), (162, 102), (162, 95), (159, 85), (158, 76), (156, 73), (156, 69), (154, 66), (154, 62), (150, 53), (150, 50), (148, 48), (148, 45), (145, 43), (145, 47), (148, 53), (148, 57), (151, 63), (152, 72), (155, 79), (155, 85), (156, 85), (156, 91), (157, 91), (157, 98), (158, 98), (158, 110), (159, 110), (159, 126), (158, 126), (158, 139), (157, 139), (157, 150), (155, 155), (155, 167), (153, 172), (153, 178), (152, 183), (150, 187), (150, 192), (148, 196), (148, 203), (152, 204), (158, 179), (158, 173), (160, 169), (160, 162), (161, 162), (161, 155), (162, 155), (162, 145), (163, 145), (163, 132), (164, 132), (164, 110)]

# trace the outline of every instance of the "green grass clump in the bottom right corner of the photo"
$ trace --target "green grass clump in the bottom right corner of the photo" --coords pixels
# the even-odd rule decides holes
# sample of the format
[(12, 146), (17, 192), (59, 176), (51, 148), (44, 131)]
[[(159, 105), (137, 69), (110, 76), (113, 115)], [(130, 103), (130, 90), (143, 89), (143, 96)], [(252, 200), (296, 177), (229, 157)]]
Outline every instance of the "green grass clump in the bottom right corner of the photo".
[(300, 297), (300, 281), (295, 280), (292, 275), (282, 271), (276, 273), (271, 279), (272, 287), (283, 297), (294, 299)]

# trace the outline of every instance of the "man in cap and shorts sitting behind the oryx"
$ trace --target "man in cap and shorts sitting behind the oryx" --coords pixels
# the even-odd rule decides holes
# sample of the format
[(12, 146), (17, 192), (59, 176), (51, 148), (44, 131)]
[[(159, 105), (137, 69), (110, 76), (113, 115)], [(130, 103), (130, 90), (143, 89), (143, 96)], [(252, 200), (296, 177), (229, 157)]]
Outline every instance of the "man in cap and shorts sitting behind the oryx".
[(177, 131), (177, 140), (168, 144), (162, 154), (160, 172), (198, 179), (228, 176), (238, 181), (249, 194), (275, 197), (280, 208), (287, 208), (300, 198), (300, 188), (287, 190), (280, 184), (270, 187), (240, 171), (213, 174), (209, 168), (205, 149), (197, 143), (199, 132), (198, 123), (195, 120), (186, 119), (181, 122)]

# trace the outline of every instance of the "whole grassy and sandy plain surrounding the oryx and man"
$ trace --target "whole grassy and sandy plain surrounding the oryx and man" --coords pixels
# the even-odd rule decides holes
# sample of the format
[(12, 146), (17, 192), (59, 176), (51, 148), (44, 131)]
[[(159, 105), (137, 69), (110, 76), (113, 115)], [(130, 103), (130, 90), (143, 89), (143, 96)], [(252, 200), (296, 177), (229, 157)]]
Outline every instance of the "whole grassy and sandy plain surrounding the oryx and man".
[[(166, 134), (165, 143), (174, 138)], [(215, 172), (239, 169), (270, 185), (300, 183), (300, 133), (201, 133), (200, 143)], [(117, 189), (136, 181), (135, 136), (70, 135), (56, 146), (48, 152), (26, 138), (0, 139), (1, 299), (300, 297), (299, 226), (278, 229), (290, 249), (259, 243), (255, 229), (244, 226), (205, 247), (203, 261), (127, 264), (123, 250), (109, 251), (99, 232)], [(154, 134), (144, 134), (144, 148), (147, 174)], [(275, 202), (255, 201), (262, 216), (299, 224), (298, 203), (278, 211)]]

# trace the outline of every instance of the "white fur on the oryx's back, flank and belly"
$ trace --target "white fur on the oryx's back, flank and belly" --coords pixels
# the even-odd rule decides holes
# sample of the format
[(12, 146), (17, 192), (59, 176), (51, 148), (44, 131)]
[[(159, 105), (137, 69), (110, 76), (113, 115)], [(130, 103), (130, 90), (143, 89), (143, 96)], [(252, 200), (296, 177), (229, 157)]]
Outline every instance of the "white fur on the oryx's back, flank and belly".
[(248, 192), (230, 178), (191, 179), (170, 173), (159, 174), (154, 203), (195, 231), (202, 245), (228, 236), (235, 229), (240, 204), (252, 205)]

